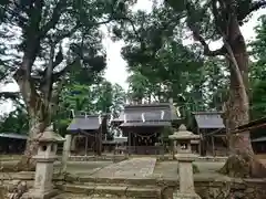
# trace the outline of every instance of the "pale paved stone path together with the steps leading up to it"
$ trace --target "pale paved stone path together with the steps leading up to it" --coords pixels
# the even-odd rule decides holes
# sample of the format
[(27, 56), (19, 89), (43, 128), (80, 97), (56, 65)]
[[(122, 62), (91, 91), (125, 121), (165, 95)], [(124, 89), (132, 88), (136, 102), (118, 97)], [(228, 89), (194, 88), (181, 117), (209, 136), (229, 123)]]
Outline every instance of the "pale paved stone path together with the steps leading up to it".
[[(106, 166), (89, 176), (85, 172), (66, 176), (63, 182), (57, 184), (57, 188), (64, 195), (58, 197), (105, 199), (112, 196), (111, 198), (114, 199), (168, 199), (170, 197), (163, 197), (165, 185), (153, 177), (155, 164), (156, 158), (133, 158)], [(65, 195), (79, 195), (79, 197)]]

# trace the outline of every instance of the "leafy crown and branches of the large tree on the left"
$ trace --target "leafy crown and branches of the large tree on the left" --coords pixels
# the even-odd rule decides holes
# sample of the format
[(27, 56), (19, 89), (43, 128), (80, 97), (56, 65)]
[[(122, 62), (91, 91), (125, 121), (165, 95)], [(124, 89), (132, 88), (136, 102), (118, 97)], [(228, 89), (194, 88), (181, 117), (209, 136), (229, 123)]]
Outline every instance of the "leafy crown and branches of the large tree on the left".
[(0, 62), (0, 78), (16, 78), (32, 121), (54, 122), (62, 132), (70, 109), (117, 112), (114, 103), (121, 102), (123, 91), (102, 78), (106, 55), (100, 25), (121, 20), (134, 2), (8, 2), (0, 7), (0, 59), (6, 61)]

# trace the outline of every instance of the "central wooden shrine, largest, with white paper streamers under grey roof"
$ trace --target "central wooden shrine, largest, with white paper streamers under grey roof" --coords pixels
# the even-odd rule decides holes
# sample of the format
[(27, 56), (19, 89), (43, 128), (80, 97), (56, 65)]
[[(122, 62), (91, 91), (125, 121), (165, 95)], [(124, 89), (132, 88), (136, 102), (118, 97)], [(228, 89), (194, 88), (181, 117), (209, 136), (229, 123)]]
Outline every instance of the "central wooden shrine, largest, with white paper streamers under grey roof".
[(127, 137), (129, 154), (157, 154), (164, 129), (177, 125), (177, 121), (172, 103), (130, 104), (111, 124)]

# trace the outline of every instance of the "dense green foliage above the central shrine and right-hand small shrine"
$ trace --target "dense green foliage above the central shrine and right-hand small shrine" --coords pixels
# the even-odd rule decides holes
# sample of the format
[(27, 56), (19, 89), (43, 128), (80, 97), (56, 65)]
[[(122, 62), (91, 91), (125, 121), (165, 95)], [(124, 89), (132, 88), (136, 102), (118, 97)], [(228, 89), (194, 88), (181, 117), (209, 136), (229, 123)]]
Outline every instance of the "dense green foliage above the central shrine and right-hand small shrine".
[[(122, 55), (131, 72), (130, 96), (136, 101), (164, 102), (172, 97), (183, 115), (187, 115), (187, 111), (221, 111), (228, 98), (229, 67), (225, 59), (212, 54), (207, 43), (223, 38), (229, 14), (236, 13), (242, 24), (266, 3), (242, 0), (217, 7), (216, 0), (164, 2), (154, 6), (151, 13), (130, 13), (127, 25), (115, 27), (114, 34), (125, 40)], [(203, 48), (184, 45), (183, 41), (187, 39), (185, 25)], [(260, 56), (256, 62), (260, 67), (250, 70), (250, 76), (256, 73), (263, 78), (265, 32), (263, 29), (257, 32), (262, 40), (254, 43), (257, 45), (254, 53)]]

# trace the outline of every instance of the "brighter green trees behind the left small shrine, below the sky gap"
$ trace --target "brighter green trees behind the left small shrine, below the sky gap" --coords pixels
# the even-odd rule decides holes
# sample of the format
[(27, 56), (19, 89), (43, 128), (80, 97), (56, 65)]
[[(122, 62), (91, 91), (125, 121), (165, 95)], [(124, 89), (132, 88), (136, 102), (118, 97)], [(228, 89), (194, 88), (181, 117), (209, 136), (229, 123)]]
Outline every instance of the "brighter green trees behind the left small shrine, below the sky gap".
[[(79, 80), (79, 76), (74, 80)], [(72, 112), (83, 112), (89, 115), (108, 114), (116, 117), (124, 103), (124, 90), (117, 84), (112, 85), (104, 78), (91, 85), (69, 84), (60, 97), (59, 112), (54, 118), (55, 126), (61, 134), (64, 134), (72, 119)]]

